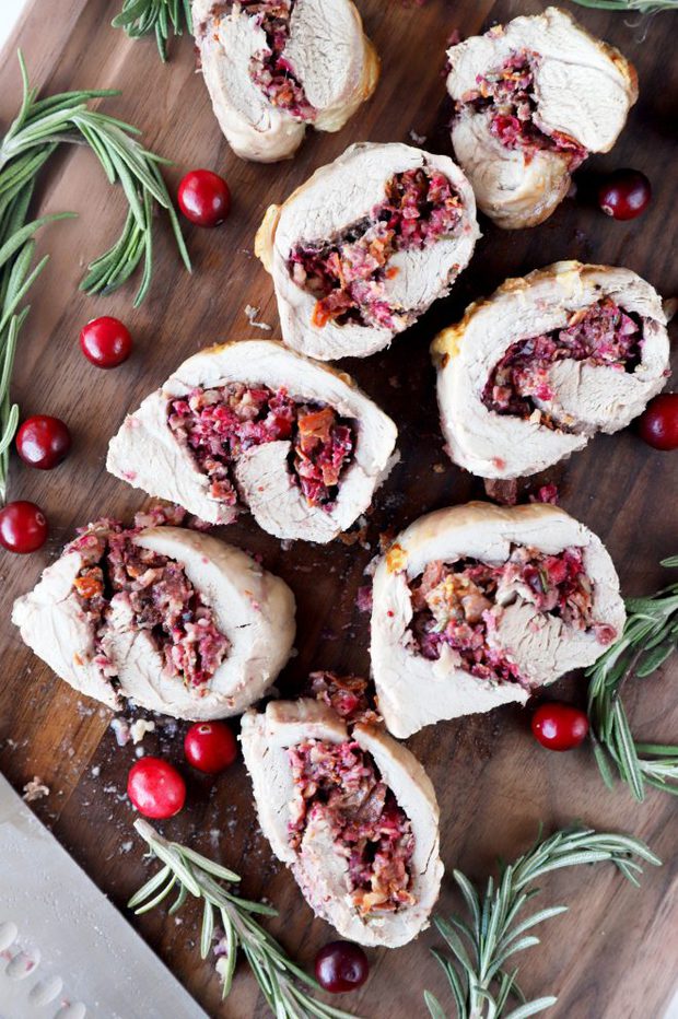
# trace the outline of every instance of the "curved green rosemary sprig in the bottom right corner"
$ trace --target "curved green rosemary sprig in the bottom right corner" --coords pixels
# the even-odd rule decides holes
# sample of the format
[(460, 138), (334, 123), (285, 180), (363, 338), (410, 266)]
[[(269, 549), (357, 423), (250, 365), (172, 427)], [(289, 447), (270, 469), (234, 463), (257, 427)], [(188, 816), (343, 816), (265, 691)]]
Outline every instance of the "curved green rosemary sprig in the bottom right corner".
[[(549, 906), (518, 920), (524, 906), (539, 891), (528, 886), (551, 870), (601, 860), (610, 860), (638, 885), (636, 875), (642, 867), (634, 856), (654, 866), (662, 863), (639, 839), (588, 828), (558, 831), (549, 839), (538, 840), (531, 850), (503, 868), (496, 885), (491, 877), (488, 879), (482, 899), (465, 875), (453, 871), (468, 916), (453, 915), (448, 921), (434, 917), (451, 954), (437, 949), (432, 952), (449, 983), (458, 1019), (502, 1016), (526, 1019), (553, 1005), (557, 1000), (553, 995), (527, 1002), (516, 982), (518, 968), (507, 967), (516, 952), (539, 944), (539, 938), (526, 932), (568, 910), (563, 905)], [(505, 1012), (510, 997), (519, 1004)], [(424, 1000), (432, 1019), (445, 1019), (446, 1012), (437, 998), (425, 991)]]

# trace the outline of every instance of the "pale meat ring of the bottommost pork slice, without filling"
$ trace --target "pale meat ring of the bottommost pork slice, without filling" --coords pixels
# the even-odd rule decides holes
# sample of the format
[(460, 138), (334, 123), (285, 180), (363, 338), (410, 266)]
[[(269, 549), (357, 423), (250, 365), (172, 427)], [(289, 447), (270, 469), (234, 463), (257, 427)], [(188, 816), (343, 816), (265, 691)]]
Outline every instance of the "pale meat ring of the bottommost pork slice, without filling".
[[(417, 901), (382, 916), (361, 917), (355, 910), (347, 859), (336, 852), (322, 812), (308, 818), (299, 850), (290, 846), (289, 807), (294, 783), (288, 748), (305, 739), (342, 742), (349, 736), (372, 756), (414, 834), (409, 891)], [(271, 702), (264, 714), (247, 712), (241, 741), (264, 834), (278, 858), (290, 865), (314, 912), (342, 937), (361, 945), (396, 948), (412, 940), (428, 925), (443, 875), (435, 790), (413, 754), (374, 726), (358, 724), (349, 734), (330, 707), (306, 699)]]

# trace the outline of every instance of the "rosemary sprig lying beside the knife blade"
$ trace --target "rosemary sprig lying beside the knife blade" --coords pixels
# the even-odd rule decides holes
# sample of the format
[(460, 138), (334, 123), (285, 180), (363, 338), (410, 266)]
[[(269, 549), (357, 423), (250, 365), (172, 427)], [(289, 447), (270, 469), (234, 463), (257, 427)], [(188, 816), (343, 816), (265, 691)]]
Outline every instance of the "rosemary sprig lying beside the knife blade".
[(135, 828), (148, 843), (150, 855), (162, 860), (163, 866), (132, 895), (128, 906), (136, 913), (147, 913), (174, 889), (177, 898), (170, 909), (171, 914), (184, 905), (189, 894), (202, 899), (202, 959), (210, 951), (217, 920), (224, 929), (225, 953), (217, 963), (224, 998), (233, 982), (237, 950), (242, 948), (276, 1019), (307, 1019), (311, 1016), (317, 1019), (351, 1019), (349, 1012), (326, 1005), (308, 993), (306, 988), (322, 988), (255, 920), (257, 914), (276, 916), (277, 911), (261, 902), (241, 899), (223, 887), (224, 881), (237, 883), (241, 880), (237, 874), (178, 842), (167, 842), (147, 821), (135, 821)]

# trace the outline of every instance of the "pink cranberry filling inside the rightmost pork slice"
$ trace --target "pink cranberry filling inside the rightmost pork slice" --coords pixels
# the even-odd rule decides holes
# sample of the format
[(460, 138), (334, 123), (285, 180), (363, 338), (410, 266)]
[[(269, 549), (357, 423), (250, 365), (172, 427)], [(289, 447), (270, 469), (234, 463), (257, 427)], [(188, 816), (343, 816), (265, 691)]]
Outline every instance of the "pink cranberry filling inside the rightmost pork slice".
[[(642, 339), (642, 319), (604, 297), (574, 312), (564, 329), (512, 343), (492, 368), (482, 402), (499, 414), (529, 418), (539, 405), (553, 399), (549, 371), (557, 361), (586, 361), (633, 372), (640, 364)], [(562, 426), (548, 414), (542, 414), (540, 424)]]

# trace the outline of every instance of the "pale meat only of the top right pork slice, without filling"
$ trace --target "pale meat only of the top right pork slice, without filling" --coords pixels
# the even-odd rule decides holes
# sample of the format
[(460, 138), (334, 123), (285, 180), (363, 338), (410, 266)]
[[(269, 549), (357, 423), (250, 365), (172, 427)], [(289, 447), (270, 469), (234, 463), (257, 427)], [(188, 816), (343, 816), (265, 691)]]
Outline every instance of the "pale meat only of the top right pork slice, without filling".
[[(447, 51), (447, 91), (457, 103), (516, 52), (534, 58), (534, 122), (588, 152), (607, 152), (638, 98), (633, 66), (589, 35), (568, 13), (548, 8), (474, 36)], [(552, 151), (508, 149), (491, 136), (487, 110), (465, 107), (452, 129), (457, 159), (479, 208), (499, 226), (515, 230), (547, 219), (570, 186), (568, 159)]]

